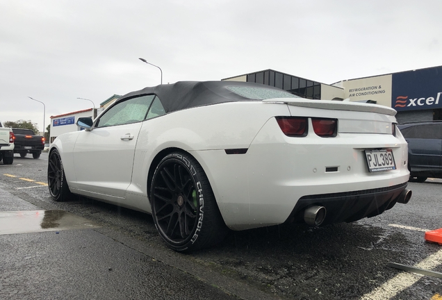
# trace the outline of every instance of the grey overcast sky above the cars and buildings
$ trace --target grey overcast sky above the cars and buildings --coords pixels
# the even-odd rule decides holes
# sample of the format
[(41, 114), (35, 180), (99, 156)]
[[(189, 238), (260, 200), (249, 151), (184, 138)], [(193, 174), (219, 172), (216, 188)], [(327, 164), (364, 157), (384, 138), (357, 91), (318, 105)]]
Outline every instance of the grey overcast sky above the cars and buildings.
[(442, 65), (441, 0), (0, 0), (0, 120), (275, 69), (321, 83)]

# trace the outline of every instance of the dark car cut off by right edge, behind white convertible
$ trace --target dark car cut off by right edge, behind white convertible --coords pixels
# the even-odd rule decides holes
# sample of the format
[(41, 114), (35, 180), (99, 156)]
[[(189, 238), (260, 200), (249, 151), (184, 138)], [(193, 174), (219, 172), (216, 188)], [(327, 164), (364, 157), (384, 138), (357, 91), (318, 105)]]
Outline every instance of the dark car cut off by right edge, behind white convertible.
[(442, 122), (398, 125), (408, 142), (410, 181), (442, 178)]

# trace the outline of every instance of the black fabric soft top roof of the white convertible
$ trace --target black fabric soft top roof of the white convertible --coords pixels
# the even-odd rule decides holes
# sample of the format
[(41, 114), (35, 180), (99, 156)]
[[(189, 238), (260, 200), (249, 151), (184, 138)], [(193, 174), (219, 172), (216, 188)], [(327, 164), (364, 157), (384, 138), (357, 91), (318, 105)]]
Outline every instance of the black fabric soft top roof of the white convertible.
[(260, 83), (245, 83), (239, 81), (179, 81), (173, 84), (157, 85), (155, 87), (130, 92), (116, 102), (138, 97), (143, 94), (156, 94), (163, 104), (165, 112), (171, 113), (176, 110), (216, 103), (261, 101), (261, 99), (249, 99), (231, 92), (227, 87), (232, 86), (264, 88), (285, 92), (279, 88), (273, 88)]

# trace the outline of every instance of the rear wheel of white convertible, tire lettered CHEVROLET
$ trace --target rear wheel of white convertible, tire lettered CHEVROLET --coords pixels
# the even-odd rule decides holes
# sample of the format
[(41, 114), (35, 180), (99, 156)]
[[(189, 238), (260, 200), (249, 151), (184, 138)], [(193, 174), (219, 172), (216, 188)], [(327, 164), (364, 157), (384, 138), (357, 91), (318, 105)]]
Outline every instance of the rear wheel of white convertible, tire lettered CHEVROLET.
[(208, 178), (188, 153), (170, 153), (161, 160), (150, 196), (155, 226), (175, 251), (211, 247), (227, 234)]

